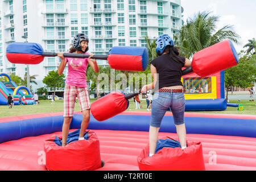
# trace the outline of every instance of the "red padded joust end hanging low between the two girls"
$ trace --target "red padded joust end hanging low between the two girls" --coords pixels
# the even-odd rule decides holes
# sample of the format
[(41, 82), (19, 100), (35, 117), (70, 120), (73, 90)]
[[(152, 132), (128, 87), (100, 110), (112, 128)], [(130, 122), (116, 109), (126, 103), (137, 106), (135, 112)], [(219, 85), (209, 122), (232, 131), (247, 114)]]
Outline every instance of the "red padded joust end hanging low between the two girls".
[(114, 91), (94, 101), (90, 105), (90, 111), (97, 121), (104, 121), (125, 111), (128, 104), (125, 94)]

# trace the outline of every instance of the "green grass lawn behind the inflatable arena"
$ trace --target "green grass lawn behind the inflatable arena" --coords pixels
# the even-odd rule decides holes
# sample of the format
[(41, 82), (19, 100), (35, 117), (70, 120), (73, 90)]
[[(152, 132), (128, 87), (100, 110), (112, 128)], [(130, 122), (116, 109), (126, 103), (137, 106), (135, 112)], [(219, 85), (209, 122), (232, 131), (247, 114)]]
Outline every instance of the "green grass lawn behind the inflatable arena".
[[(90, 99), (92, 103), (96, 99)], [(11, 117), (16, 115), (28, 115), (28, 114), (39, 114), (39, 113), (56, 113), (63, 111), (63, 100), (56, 100), (55, 104), (51, 104), (51, 100), (39, 101), (39, 105), (14, 105), (12, 109), (9, 106), (0, 105), (0, 118)], [(222, 111), (186, 111), (189, 113), (217, 113), (217, 114), (249, 114), (256, 115), (256, 102), (249, 100), (241, 100), (240, 102), (230, 101), (230, 103), (242, 104), (244, 110), (237, 110), (237, 107), (227, 107), (226, 110)], [(135, 109), (135, 102), (129, 100), (129, 108), (126, 111), (147, 111), (147, 104), (145, 100), (141, 101), (142, 109)], [(75, 104), (75, 111), (80, 111), (80, 104), (77, 101)]]

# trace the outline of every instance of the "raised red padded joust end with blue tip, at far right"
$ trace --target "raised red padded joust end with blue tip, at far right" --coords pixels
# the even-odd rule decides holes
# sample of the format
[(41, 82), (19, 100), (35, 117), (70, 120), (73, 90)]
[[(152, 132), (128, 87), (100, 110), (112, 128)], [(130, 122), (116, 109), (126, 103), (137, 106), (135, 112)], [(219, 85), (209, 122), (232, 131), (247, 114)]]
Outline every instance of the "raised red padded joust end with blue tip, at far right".
[(193, 56), (192, 69), (205, 77), (238, 64), (238, 55), (230, 40), (214, 44)]

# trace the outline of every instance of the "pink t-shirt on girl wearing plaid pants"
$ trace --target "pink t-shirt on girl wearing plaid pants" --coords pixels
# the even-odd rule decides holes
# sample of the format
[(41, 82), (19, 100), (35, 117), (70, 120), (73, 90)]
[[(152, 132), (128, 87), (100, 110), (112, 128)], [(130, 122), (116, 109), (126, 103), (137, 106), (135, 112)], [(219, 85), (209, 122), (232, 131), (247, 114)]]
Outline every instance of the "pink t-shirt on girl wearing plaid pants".
[[(87, 52), (85, 54), (89, 55)], [(87, 87), (86, 69), (88, 58), (65, 57), (65, 60), (68, 61), (68, 76), (65, 83), (72, 86)]]

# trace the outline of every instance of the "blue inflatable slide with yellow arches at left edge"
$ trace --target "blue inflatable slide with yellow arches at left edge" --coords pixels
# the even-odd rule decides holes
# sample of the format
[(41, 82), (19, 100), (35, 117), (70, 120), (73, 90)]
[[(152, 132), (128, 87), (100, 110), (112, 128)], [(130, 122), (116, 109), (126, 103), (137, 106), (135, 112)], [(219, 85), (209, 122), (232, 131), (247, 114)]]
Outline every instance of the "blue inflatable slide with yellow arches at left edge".
[(6, 78), (5, 82), (0, 81), (0, 105), (7, 105), (9, 94), (14, 97), (14, 105), (19, 104), (19, 95), (22, 96), (22, 104), (34, 104), (33, 96), (26, 86), (17, 86), (6, 73), (0, 73), (0, 77)]

